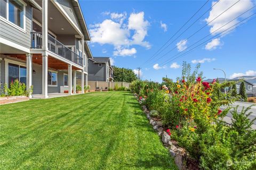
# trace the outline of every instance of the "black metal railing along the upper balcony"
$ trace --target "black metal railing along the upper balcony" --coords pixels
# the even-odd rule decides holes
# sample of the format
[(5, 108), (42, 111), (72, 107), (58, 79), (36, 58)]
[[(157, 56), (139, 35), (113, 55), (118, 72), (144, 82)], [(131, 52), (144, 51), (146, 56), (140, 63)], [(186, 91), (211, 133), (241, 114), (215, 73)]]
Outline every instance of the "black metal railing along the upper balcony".
[[(31, 48), (42, 49), (42, 32), (31, 32)], [(70, 47), (66, 47), (51, 35), (48, 35), (48, 50), (75, 64), (83, 66), (82, 56), (73, 52)]]

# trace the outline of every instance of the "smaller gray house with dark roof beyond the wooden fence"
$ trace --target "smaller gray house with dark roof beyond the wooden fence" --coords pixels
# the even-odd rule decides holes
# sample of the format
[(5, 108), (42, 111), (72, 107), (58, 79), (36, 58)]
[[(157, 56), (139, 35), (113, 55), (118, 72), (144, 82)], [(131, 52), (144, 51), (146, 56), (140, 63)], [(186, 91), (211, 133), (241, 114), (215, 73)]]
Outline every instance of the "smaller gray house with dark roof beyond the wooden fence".
[(113, 68), (109, 57), (93, 57), (88, 60), (89, 81), (113, 81)]

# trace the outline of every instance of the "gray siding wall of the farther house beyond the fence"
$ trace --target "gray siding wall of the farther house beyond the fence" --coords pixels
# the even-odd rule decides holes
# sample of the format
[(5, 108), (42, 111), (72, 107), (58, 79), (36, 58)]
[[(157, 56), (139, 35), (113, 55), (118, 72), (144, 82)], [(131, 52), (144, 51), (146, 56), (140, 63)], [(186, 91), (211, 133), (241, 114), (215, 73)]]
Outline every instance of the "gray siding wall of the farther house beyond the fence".
[(88, 81), (106, 81), (106, 64), (93, 63), (88, 60)]

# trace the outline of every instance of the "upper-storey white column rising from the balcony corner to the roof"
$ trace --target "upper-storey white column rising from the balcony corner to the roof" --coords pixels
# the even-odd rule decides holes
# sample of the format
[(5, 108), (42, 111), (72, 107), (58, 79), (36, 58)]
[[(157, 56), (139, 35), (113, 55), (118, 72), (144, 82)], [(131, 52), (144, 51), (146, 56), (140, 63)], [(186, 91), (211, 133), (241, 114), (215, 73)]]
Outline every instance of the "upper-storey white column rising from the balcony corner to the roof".
[(42, 1), (42, 48), (48, 49), (48, 1)]

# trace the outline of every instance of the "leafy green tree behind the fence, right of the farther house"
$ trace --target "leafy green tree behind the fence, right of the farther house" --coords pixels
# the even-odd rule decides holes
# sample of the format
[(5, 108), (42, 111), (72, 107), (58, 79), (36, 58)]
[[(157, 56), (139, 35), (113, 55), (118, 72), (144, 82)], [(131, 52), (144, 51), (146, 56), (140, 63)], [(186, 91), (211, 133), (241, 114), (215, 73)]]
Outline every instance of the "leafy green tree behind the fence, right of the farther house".
[(125, 69), (125, 68), (113, 66), (113, 72), (114, 72), (114, 81), (132, 82), (134, 80), (137, 80), (137, 76), (132, 69)]

